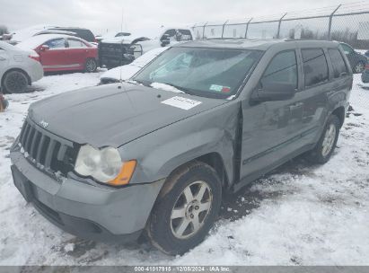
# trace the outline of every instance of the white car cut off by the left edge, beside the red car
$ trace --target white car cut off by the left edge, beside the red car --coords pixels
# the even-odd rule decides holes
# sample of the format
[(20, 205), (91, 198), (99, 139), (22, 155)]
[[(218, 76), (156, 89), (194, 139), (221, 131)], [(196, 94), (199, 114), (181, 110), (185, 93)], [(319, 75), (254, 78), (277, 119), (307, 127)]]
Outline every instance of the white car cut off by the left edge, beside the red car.
[(25, 92), (43, 76), (39, 55), (0, 41), (0, 80), (3, 92)]

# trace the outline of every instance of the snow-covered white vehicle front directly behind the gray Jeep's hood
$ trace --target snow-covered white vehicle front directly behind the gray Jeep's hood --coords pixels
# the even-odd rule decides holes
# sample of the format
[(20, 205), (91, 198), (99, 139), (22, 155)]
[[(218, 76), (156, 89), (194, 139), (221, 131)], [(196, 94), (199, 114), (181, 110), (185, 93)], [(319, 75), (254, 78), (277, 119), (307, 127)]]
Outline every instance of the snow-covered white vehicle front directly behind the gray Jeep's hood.
[(141, 57), (137, 57), (132, 63), (126, 66), (118, 66), (112, 68), (100, 76), (100, 84), (119, 83), (120, 80), (125, 81), (135, 75), (142, 67), (151, 62), (154, 57), (160, 55), (169, 47), (154, 48), (146, 52)]

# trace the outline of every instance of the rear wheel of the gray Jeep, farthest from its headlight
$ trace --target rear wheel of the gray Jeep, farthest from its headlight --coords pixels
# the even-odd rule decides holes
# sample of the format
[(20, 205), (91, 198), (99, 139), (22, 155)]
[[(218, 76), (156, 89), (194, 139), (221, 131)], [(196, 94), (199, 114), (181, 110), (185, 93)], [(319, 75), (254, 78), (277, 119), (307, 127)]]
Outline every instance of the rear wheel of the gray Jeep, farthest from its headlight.
[(308, 154), (307, 159), (312, 163), (327, 163), (333, 154), (338, 141), (340, 120), (337, 116), (331, 115), (321, 134), (318, 144)]

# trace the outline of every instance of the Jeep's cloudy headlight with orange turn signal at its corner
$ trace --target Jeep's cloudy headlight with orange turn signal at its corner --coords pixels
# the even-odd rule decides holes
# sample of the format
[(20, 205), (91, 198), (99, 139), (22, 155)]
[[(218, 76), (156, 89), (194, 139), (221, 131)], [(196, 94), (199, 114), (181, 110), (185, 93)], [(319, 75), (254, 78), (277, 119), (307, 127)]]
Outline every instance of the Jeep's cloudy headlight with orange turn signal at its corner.
[(113, 147), (96, 149), (83, 145), (75, 161), (75, 172), (114, 186), (126, 185), (135, 168), (136, 160), (122, 162), (119, 151)]

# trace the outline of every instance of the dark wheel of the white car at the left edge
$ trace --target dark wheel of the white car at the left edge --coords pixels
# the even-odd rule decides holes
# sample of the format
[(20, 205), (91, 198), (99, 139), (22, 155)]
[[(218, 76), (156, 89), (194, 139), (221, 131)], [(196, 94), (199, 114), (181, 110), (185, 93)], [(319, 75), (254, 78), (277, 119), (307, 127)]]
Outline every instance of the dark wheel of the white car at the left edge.
[(5, 93), (25, 92), (28, 86), (28, 77), (19, 70), (7, 72), (3, 78), (3, 88)]

